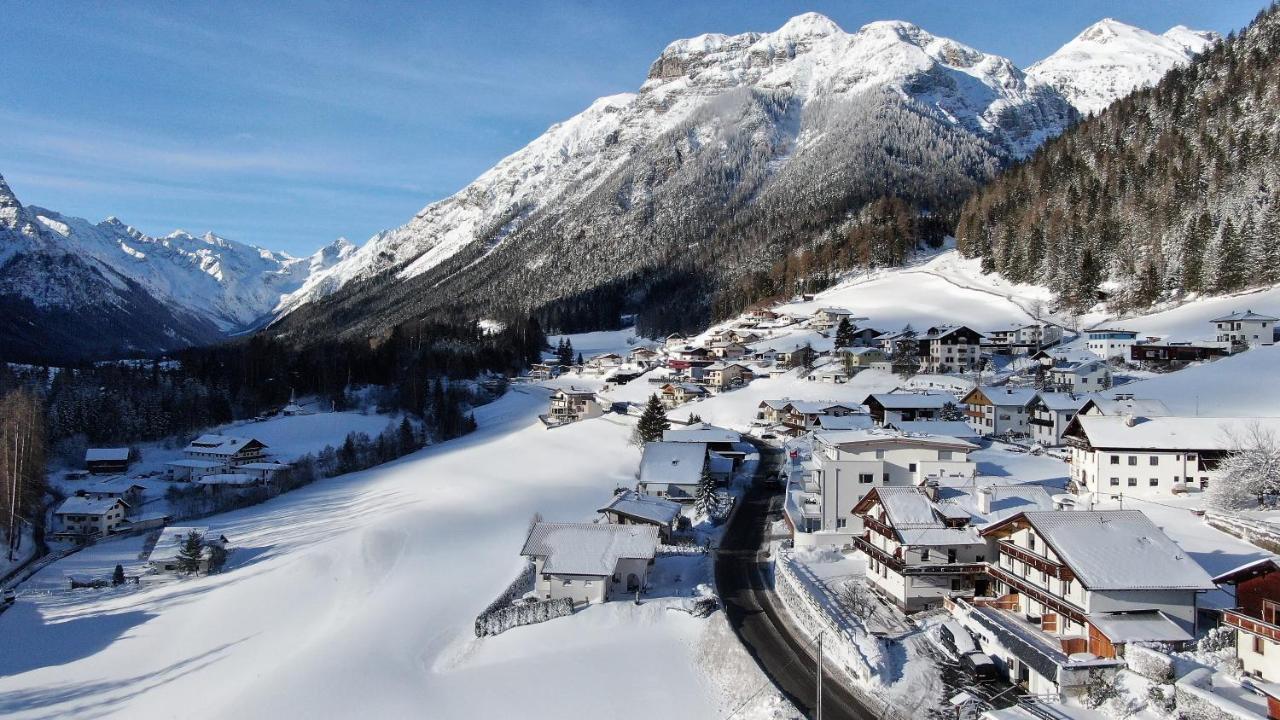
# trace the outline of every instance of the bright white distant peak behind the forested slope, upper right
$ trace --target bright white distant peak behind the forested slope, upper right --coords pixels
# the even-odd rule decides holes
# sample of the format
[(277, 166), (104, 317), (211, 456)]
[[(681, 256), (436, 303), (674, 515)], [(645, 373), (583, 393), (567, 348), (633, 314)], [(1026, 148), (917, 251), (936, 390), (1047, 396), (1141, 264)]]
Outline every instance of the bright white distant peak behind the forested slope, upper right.
[(1221, 40), (1212, 31), (1184, 26), (1156, 35), (1105, 18), (1027, 74), (1056, 87), (1083, 115), (1097, 114), (1130, 92), (1149, 87)]

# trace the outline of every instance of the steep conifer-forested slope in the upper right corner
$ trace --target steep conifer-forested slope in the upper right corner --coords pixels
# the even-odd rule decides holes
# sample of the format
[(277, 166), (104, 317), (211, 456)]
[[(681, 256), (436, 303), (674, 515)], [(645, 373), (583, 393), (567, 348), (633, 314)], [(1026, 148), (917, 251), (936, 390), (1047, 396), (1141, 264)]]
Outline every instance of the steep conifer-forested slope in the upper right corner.
[(960, 250), (1080, 310), (1280, 282), (1280, 13), (975, 193)]

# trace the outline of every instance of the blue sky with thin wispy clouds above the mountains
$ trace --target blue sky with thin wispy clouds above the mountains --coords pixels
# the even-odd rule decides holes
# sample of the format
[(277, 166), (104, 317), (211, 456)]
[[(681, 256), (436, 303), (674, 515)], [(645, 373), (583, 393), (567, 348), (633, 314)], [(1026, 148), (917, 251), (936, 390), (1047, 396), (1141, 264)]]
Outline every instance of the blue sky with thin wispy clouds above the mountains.
[[(274, 6), (268, 6), (274, 5)], [(1262, 0), (14, 3), (0, 174), (29, 205), (307, 254), (408, 220), (677, 37), (911, 20), (1021, 67), (1103, 17), (1239, 28)]]

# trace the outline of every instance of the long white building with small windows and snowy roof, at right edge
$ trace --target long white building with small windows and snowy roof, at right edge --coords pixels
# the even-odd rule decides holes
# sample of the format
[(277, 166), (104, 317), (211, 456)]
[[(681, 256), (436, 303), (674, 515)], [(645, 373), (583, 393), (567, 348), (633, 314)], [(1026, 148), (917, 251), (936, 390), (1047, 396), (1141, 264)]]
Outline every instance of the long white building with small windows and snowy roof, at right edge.
[(1248, 425), (1280, 432), (1280, 418), (1143, 418), (1079, 414), (1062, 433), (1078, 493), (1167, 497), (1204, 489)]

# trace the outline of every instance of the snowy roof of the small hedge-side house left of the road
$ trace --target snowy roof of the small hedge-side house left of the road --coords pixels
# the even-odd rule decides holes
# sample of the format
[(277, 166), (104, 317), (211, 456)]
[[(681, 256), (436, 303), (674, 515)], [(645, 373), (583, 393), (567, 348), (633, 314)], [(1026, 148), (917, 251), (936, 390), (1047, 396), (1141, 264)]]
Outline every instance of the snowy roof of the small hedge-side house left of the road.
[(654, 525), (536, 523), (520, 553), (544, 557), (544, 573), (603, 577), (613, 574), (618, 560), (648, 560), (657, 550)]

